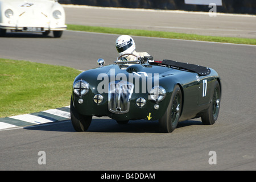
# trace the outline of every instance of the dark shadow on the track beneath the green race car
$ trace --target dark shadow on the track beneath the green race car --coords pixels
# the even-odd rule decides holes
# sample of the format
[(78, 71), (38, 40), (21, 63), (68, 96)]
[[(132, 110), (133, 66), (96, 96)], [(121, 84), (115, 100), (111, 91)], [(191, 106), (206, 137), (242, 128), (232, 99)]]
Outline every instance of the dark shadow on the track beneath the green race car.
[[(188, 120), (179, 122), (176, 129), (191, 125), (202, 125), (201, 121)], [(43, 130), (43, 131), (59, 131), (59, 132), (76, 132), (73, 129), (71, 120), (55, 121), (40, 125), (24, 127), (26, 130)], [(158, 121), (135, 120), (129, 121), (127, 124), (118, 124), (113, 119), (93, 118), (87, 132), (99, 133), (162, 133), (159, 129)]]

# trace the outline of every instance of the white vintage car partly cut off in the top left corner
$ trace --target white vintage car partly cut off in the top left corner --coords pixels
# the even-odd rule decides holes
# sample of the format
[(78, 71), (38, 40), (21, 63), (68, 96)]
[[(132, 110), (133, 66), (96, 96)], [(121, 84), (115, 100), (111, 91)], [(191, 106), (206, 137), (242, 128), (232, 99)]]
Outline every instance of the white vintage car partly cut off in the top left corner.
[(57, 0), (0, 0), (0, 36), (6, 30), (22, 32), (53, 31), (60, 38), (65, 25), (65, 11)]

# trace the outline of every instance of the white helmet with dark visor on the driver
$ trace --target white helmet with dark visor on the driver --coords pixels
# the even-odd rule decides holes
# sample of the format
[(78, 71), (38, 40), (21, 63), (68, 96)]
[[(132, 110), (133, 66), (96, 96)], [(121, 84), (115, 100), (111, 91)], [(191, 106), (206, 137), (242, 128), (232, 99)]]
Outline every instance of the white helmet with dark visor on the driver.
[(119, 55), (132, 53), (135, 50), (135, 42), (129, 35), (121, 35), (115, 40), (115, 47)]

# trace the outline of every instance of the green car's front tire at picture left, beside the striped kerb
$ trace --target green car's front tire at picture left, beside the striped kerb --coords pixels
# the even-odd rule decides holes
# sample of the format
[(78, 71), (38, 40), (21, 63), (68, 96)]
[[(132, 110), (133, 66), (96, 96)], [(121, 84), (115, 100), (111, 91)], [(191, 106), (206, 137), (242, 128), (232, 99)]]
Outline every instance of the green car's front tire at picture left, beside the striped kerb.
[(79, 114), (73, 106), (72, 98), (70, 103), (70, 114), (72, 125), (76, 131), (86, 131), (89, 128), (90, 123), (92, 122), (92, 115)]

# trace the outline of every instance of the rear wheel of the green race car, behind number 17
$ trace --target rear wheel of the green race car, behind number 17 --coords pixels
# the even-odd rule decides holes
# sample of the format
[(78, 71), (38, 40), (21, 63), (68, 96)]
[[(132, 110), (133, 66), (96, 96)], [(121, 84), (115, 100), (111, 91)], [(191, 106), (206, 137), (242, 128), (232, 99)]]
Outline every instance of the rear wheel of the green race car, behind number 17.
[(213, 125), (218, 118), (220, 111), (221, 90), (220, 84), (216, 80), (213, 86), (213, 94), (210, 101), (209, 108), (201, 115), (204, 125)]

